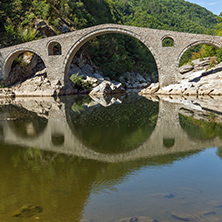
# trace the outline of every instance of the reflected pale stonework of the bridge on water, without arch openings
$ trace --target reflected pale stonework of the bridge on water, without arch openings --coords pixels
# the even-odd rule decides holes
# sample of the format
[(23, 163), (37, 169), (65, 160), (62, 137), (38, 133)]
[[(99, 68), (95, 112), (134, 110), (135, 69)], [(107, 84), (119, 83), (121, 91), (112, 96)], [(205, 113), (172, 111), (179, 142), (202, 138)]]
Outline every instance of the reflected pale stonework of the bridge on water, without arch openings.
[[(204, 141), (189, 138), (186, 132), (181, 128), (179, 122), (178, 113), (180, 108), (184, 106), (160, 100), (156, 127), (151, 136), (147, 138), (141, 146), (125, 153), (100, 153), (83, 145), (73, 134), (67, 122), (67, 113), (65, 112), (64, 104), (62, 106), (60, 105), (60, 108), (58, 108), (52, 103), (51, 107), (46, 128), (35, 138), (20, 137), (10, 127), (10, 121), (1, 121), (3, 128), (2, 140), (4, 143), (21, 145), (27, 148), (40, 148), (45, 151), (68, 154), (102, 162), (132, 161), (160, 155), (164, 156), (168, 154), (198, 151), (207, 147), (218, 147), (221, 145), (221, 140), (219, 138)], [(200, 112), (200, 110), (198, 112)], [(53, 135), (64, 136), (64, 143), (54, 145), (52, 142)], [(167, 148), (164, 145), (164, 139), (171, 139), (171, 141), (173, 141), (171, 147)]]

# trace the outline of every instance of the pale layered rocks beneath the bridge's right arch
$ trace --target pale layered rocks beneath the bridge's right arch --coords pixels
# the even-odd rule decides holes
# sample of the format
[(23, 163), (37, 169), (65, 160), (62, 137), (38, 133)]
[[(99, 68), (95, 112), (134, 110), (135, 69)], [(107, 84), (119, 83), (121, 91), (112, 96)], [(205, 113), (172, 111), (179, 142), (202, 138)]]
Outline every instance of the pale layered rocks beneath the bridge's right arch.
[(222, 95), (222, 63), (210, 68), (210, 58), (195, 60), (180, 68), (181, 81), (160, 88), (158, 83), (141, 90), (140, 95)]

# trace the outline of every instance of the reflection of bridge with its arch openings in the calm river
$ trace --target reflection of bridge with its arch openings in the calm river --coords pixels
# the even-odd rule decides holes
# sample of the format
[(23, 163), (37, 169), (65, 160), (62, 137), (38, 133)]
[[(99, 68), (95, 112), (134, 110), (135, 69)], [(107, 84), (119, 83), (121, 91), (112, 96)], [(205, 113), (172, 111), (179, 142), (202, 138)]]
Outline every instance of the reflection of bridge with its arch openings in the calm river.
[[(87, 98), (64, 103), (45, 101), (44, 107), (44, 102), (32, 102), (20, 103), (32, 110), (29, 113), (18, 106), (7, 108), (4, 115), (10, 121), (1, 122), (4, 143), (102, 162), (220, 146), (217, 137), (204, 141), (192, 139), (180, 124), (179, 113), (185, 110), (184, 105), (177, 103), (124, 98), (121, 104), (103, 107)], [(37, 113), (33, 112), (35, 106)], [(202, 113), (210, 118), (208, 112)]]

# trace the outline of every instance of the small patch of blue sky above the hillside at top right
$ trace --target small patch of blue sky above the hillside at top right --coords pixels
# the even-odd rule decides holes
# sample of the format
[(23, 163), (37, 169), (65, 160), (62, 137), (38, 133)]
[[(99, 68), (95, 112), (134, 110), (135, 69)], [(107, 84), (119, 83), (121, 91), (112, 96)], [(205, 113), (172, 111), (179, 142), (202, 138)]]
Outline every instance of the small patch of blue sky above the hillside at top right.
[(219, 15), (222, 12), (222, 0), (188, 0), (191, 3), (198, 4), (215, 15)]

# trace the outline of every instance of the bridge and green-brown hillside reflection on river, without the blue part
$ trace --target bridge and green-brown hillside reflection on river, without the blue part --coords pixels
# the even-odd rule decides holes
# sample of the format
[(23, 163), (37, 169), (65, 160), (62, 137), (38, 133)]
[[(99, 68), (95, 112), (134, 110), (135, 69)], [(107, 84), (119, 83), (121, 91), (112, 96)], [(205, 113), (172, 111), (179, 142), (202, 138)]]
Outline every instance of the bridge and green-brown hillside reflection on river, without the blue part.
[[(1, 107), (1, 221), (27, 203), (41, 205), (45, 220), (81, 221), (92, 192), (113, 189), (144, 166), (166, 166), (221, 144), (219, 134), (198, 128), (219, 114), (135, 95), (113, 101), (103, 107), (87, 97), (26, 98)], [(192, 127), (200, 133), (189, 134)]]

